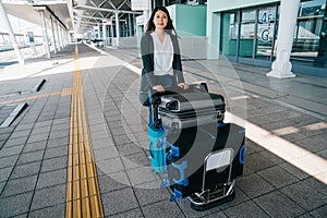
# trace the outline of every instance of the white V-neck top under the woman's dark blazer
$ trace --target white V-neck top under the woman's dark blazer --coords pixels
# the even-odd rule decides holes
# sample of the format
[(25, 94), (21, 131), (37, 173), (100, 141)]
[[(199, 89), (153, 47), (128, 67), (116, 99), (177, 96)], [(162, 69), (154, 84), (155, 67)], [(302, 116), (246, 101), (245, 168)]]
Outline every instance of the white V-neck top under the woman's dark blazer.
[(155, 75), (173, 75), (172, 60), (173, 47), (170, 36), (165, 33), (162, 44), (156, 32), (152, 33), (154, 39), (154, 74)]

